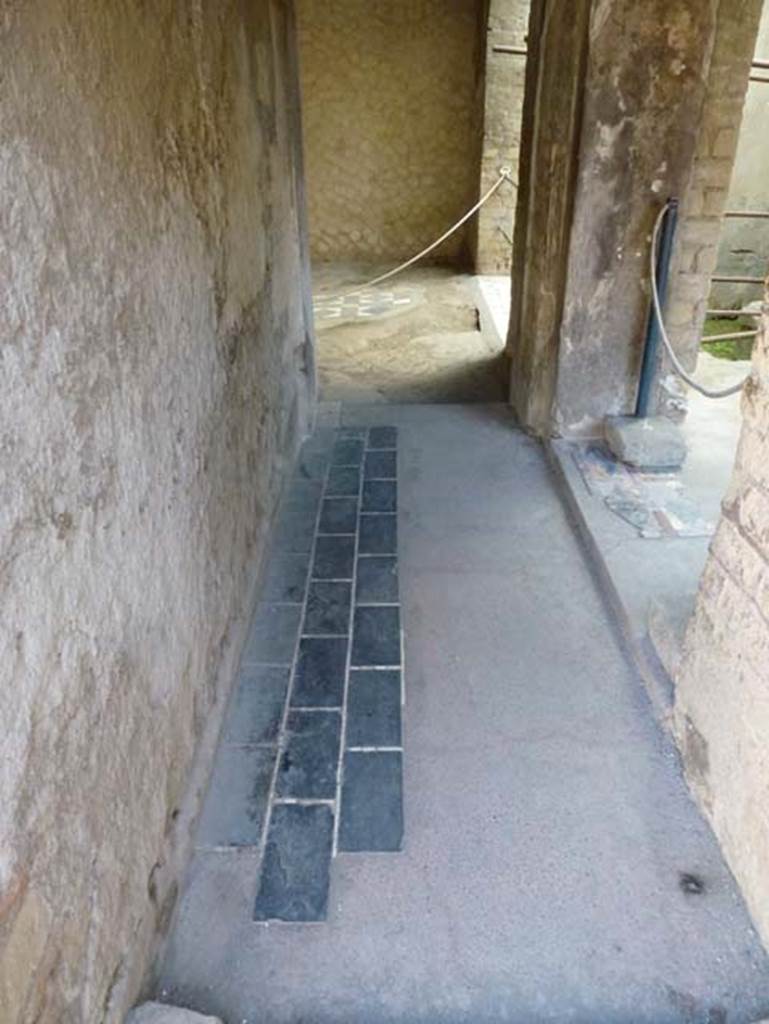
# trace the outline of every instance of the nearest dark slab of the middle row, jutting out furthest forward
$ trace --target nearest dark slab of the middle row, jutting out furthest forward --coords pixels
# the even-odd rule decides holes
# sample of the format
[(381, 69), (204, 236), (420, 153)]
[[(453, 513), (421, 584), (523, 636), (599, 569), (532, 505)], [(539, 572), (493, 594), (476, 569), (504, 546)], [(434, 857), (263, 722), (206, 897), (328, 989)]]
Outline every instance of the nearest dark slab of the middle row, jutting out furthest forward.
[(325, 921), (334, 814), (326, 805), (272, 810), (255, 921)]

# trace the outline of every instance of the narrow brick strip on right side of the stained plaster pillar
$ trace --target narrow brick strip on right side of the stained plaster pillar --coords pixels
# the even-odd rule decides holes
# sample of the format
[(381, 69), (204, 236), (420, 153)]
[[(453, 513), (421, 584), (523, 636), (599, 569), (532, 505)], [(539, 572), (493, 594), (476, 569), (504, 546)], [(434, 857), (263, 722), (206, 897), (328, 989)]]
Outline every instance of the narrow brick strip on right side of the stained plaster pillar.
[[(689, 370), (696, 364), (716, 268), (761, 5), (762, 0), (719, 3), (696, 153), (689, 180), (679, 194), (682, 202), (666, 323), (676, 352)], [(667, 397), (664, 389), (663, 408)]]

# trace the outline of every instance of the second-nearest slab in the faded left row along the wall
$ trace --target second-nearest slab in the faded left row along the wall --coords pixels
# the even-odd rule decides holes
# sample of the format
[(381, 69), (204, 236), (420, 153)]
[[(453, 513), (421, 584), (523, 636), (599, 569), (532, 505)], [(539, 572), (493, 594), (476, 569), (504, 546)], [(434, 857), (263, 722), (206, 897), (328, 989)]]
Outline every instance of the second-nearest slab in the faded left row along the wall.
[(227, 710), (225, 743), (274, 743), (286, 705), (291, 670), (244, 668)]

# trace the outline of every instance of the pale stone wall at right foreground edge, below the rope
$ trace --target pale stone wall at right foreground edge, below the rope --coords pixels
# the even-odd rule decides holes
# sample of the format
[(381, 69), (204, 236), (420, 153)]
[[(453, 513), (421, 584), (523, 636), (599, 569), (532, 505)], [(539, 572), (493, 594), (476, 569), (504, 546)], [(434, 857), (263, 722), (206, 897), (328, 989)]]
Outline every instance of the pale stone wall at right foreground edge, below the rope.
[(676, 679), (689, 782), (769, 944), (769, 305), (731, 484)]

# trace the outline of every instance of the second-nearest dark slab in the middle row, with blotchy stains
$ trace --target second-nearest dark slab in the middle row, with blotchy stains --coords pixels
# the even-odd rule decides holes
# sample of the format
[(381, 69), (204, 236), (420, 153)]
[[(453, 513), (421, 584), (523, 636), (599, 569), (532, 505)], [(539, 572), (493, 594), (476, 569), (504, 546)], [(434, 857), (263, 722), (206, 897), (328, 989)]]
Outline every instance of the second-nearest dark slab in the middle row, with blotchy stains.
[(338, 711), (292, 711), (277, 770), (277, 796), (333, 800), (342, 716)]

